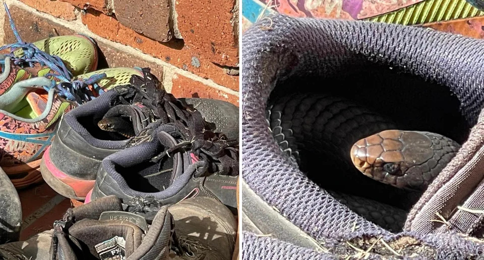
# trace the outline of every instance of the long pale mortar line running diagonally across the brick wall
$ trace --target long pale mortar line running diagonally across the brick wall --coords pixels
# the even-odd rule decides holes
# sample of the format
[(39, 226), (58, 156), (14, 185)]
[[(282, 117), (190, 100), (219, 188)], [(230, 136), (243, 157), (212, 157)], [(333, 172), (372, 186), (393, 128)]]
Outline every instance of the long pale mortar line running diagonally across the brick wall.
[[(161, 65), (161, 66), (163, 66), (163, 69), (165, 69), (165, 67), (166, 67), (167, 69), (175, 70), (177, 74), (180, 74), (182, 76), (188, 77), (188, 78), (193, 79), (195, 81), (201, 82), (201, 83), (203, 83), (207, 86), (210, 86), (211, 88), (214, 88), (216, 90), (223, 91), (227, 94), (239, 97), (239, 93), (237, 91), (231, 90), (231, 89), (227, 88), (226, 86), (219, 85), (219, 84), (215, 83), (212, 79), (205, 79), (205, 78), (203, 78), (203, 77), (201, 77), (197, 74), (185, 71), (181, 68), (176, 67), (175, 65), (164, 62), (161, 59), (158, 59), (158, 58), (155, 58), (155, 57), (150, 56), (148, 54), (145, 54), (145, 53), (133, 48), (132, 46), (124, 45), (124, 44), (118, 43), (118, 42), (112, 42), (108, 39), (102, 38), (101, 36), (99, 36), (97, 34), (94, 34), (93, 32), (91, 32), (87, 28), (86, 25), (84, 25), (82, 23), (82, 21), (80, 19), (81, 14), (79, 14), (77, 16), (77, 19), (74, 20), (74, 21), (65, 21), (65, 20), (62, 20), (60, 18), (56, 18), (56, 17), (53, 17), (51, 15), (42, 13), (42, 12), (36, 10), (35, 8), (27, 6), (26, 4), (18, 2), (16, 0), (5, 0), (5, 2), (9, 6), (11, 6), (11, 5), (17, 6), (17, 7), (21, 8), (21, 9), (27, 11), (27, 12), (35, 14), (36, 16), (39, 16), (41, 18), (47, 19), (47, 20), (49, 20), (53, 23), (56, 23), (58, 25), (64, 26), (68, 29), (71, 29), (71, 30), (77, 32), (77, 33), (85, 34), (85, 35), (93, 38), (95, 41), (106, 44), (106, 45), (108, 45), (108, 46), (110, 46), (110, 47), (112, 47), (116, 50), (123, 51), (125, 53), (134, 55), (138, 58), (144, 59), (146, 61), (150, 61), (150, 62), (153, 62), (157, 65)], [(170, 83), (171, 83), (171, 81), (170, 81)]]

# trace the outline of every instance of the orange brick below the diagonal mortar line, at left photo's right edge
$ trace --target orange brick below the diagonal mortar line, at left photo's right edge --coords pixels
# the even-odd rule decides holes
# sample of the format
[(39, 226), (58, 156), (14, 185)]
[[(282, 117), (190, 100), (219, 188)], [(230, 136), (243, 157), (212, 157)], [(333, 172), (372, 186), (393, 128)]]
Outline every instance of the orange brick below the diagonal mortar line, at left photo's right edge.
[(176, 98), (207, 98), (228, 101), (238, 106), (238, 97), (205, 85), (200, 81), (175, 73), (171, 94)]

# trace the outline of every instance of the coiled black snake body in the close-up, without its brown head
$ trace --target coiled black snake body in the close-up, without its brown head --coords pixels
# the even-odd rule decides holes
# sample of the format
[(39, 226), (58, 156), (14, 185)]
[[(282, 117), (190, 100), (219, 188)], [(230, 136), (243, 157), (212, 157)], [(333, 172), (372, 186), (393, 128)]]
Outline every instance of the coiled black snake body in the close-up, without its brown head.
[[(406, 210), (421, 190), (399, 189), (372, 180), (355, 168), (350, 157), (351, 147), (358, 140), (401, 126), (348, 100), (311, 93), (271, 99), (267, 119), (281, 150), (310, 179), (374, 223), (401, 230)], [(418, 166), (430, 172), (428, 176), (433, 179), (454, 157), (459, 145), (439, 134), (428, 134), (436, 137), (429, 137), (434, 154)], [(422, 186), (428, 183), (422, 182)]]

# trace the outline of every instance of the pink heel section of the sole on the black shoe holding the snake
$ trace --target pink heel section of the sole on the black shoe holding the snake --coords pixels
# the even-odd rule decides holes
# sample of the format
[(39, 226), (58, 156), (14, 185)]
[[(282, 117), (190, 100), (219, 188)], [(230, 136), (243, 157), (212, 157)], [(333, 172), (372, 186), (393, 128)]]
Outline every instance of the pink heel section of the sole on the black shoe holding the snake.
[(57, 180), (71, 187), (73, 191), (76, 193), (76, 196), (80, 198), (86, 197), (88, 192), (92, 190), (92, 187), (94, 187), (94, 183), (96, 182), (96, 180), (80, 180), (80, 179), (76, 179), (68, 176), (67, 174), (59, 170), (57, 167), (55, 167), (55, 165), (50, 160), (49, 151), (50, 151), (50, 146), (45, 150), (43, 159), (45, 162), (45, 166), (47, 167), (47, 170), (50, 171), (50, 174), (53, 177), (55, 177)]

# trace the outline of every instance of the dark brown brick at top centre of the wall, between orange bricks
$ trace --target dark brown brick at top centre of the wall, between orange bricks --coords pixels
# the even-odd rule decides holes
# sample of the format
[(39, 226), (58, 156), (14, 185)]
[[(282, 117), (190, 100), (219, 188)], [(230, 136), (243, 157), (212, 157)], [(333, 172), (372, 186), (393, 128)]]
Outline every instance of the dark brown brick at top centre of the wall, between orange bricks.
[(122, 25), (160, 42), (171, 39), (169, 0), (114, 0), (114, 7)]

